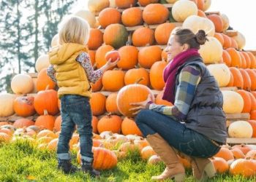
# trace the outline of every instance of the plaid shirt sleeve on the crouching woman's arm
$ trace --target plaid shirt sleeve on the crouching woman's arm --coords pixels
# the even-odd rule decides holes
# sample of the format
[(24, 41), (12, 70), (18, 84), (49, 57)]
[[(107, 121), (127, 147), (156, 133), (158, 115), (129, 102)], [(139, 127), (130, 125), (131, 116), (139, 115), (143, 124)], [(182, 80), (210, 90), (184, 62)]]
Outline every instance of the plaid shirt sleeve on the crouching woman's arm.
[(179, 84), (176, 90), (174, 105), (162, 106), (152, 103), (148, 108), (172, 116), (176, 120), (186, 119), (200, 79), (199, 68), (196, 66), (186, 66), (181, 70), (181, 74), (178, 77)]

